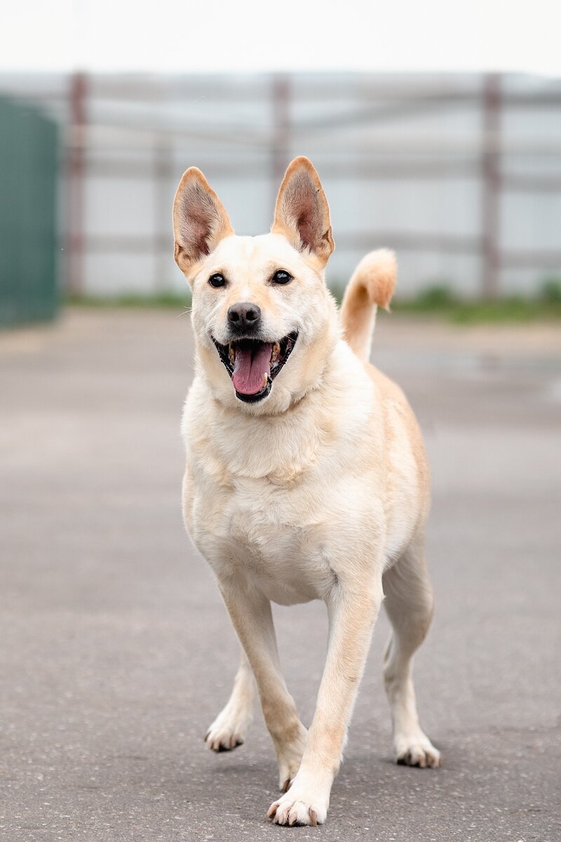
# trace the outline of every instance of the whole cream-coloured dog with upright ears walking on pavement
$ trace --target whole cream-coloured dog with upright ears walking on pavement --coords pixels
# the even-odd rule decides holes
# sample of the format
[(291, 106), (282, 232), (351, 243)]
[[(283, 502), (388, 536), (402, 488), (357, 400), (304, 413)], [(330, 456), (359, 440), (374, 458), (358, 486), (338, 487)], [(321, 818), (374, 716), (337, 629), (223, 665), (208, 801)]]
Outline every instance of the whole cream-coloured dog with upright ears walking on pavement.
[[(243, 743), (257, 683), (284, 792), (267, 815), (320, 824), (383, 599), (395, 759), (440, 763), (411, 678), (432, 616), (426, 457), (403, 392), (368, 363), (395, 259), (385, 250), (363, 258), (337, 312), (324, 279), (329, 207), (304, 157), (288, 167), (269, 234), (236, 237), (197, 168), (183, 175), (173, 222), (196, 345), (183, 511), (242, 646), (230, 701), (206, 739), (214, 751)], [(330, 631), (306, 731), (281, 674), (271, 602), (309, 600), (325, 601)]]

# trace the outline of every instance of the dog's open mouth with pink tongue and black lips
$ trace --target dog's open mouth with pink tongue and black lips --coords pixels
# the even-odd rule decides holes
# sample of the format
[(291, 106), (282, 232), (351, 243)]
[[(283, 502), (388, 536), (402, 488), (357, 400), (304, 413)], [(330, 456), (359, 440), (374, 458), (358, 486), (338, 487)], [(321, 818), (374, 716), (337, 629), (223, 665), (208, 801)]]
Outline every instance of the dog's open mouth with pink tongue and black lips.
[(236, 397), (246, 403), (257, 403), (267, 397), (273, 380), (288, 360), (298, 333), (288, 333), (276, 342), (258, 339), (236, 339), (222, 345), (213, 342), (236, 389)]

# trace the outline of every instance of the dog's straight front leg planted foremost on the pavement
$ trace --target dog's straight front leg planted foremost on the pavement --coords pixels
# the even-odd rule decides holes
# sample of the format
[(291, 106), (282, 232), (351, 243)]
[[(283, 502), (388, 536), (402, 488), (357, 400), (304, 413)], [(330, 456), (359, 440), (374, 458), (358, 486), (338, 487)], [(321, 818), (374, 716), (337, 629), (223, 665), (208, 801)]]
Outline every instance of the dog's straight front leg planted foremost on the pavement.
[(356, 589), (340, 581), (327, 600), (329, 647), (304, 757), (288, 792), (267, 813), (278, 824), (325, 821), (381, 601), (381, 580)]

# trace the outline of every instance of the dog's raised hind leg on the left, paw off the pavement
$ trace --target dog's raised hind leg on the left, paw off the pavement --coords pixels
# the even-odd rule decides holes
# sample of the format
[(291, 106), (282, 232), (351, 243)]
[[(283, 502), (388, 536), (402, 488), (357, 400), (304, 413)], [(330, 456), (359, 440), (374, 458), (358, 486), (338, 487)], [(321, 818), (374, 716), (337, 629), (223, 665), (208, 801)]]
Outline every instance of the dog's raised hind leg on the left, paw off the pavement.
[(230, 751), (245, 741), (247, 728), (253, 719), (254, 701), (255, 679), (246, 653), (242, 649), (230, 699), (204, 737), (209, 749)]

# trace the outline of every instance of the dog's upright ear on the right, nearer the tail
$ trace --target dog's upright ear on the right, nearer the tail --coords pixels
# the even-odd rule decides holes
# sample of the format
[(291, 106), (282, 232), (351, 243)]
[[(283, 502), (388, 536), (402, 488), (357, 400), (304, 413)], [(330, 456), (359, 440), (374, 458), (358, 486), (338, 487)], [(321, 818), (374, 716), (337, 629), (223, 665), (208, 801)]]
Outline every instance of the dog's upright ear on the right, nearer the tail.
[(310, 249), (325, 266), (335, 248), (329, 205), (320, 178), (307, 157), (288, 166), (278, 191), (273, 234), (282, 234), (299, 252)]

